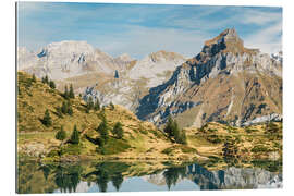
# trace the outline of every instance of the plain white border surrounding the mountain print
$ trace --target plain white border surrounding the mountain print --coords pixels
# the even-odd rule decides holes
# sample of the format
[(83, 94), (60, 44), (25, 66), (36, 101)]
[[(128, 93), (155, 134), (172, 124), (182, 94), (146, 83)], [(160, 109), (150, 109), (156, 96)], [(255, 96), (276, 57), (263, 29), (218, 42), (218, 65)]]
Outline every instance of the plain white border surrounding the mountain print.
[[(36, 0), (30, 0), (36, 1)], [(51, 0), (57, 1), (57, 0)], [(82, 2), (82, 0), (59, 0), (58, 2)], [(287, 195), (293, 188), (293, 156), (292, 151), (294, 140), (293, 132), (293, 85), (294, 85), (294, 45), (293, 45), (293, 2), (292, 0), (111, 0), (98, 1), (87, 0), (86, 2), (115, 2), (115, 3), (160, 3), (160, 4), (208, 4), (208, 5), (267, 5), (267, 7), (283, 7), (283, 53), (284, 53), (284, 188), (283, 189), (258, 189), (258, 191), (201, 191), (201, 192), (149, 192), (149, 193), (95, 193), (95, 195), (118, 195), (118, 196), (177, 196), (184, 194), (192, 195)], [(15, 194), (15, 15), (14, 1), (1, 0), (1, 195)], [(32, 195), (32, 194), (28, 194)], [(44, 195), (44, 194), (37, 194)], [(94, 194), (62, 194), (62, 195), (94, 195)]]

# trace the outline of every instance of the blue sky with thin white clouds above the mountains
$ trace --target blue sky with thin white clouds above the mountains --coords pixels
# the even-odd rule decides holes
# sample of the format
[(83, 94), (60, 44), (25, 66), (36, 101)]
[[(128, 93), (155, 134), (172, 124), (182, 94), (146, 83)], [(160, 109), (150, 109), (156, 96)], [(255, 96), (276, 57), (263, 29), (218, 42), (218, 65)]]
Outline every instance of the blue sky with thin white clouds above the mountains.
[(246, 47), (277, 52), (282, 47), (282, 9), (20, 2), (19, 46), (38, 51), (61, 40), (86, 40), (117, 57), (140, 59), (158, 50), (196, 56), (205, 40), (235, 27)]

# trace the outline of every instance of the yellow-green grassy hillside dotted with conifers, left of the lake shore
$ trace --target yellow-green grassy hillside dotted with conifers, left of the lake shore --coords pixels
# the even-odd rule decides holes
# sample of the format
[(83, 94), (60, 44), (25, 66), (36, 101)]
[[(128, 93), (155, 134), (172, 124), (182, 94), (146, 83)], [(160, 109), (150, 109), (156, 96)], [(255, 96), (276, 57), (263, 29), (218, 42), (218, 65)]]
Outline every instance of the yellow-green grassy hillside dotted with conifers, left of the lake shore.
[[(57, 108), (65, 101), (63, 94), (50, 88), (40, 81), (33, 82), (32, 75), (17, 73), (17, 150), (19, 156), (42, 157), (47, 160), (75, 159), (194, 159), (196, 149), (171, 143), (161, 131), (149, 122), (138, 120), (127, 109), (115, 105), (98, 111), (86, 112), (86, 103), (79, 98), (70, 99), (73, 114), (58, 115)], [(51, 126), (45, 126), (42, 118), (48, 109)], [(124, 136), (115, 138), (111, 132), (109, 140), (100, 149), (95, 139), (100, 136), (96, 131), (102, 118), (107, 119), (109, 131), (117, 122), (122, 123)], [(54, 135), (63, 125), (68, 137), (63, 143)], [(74, 125), (77, 126), (81, 143), (69, 143)], [(66, 142), (68, 140), (68, 142)], [(162, 151), (174, 147), (177, 154), (169, 156)], [(182, 150), (186, 149), (186, 150)], [(184, 156), (184, 157), (183, 157)]]

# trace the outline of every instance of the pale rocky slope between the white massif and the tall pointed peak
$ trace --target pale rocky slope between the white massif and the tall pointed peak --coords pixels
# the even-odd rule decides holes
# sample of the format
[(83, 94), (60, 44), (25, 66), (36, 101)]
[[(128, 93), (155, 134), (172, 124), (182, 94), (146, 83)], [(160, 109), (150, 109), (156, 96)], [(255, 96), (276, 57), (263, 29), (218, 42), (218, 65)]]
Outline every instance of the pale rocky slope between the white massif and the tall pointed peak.
[(135, 111), (139, 99), (148, 93), (148, 89), (167, 81), (172, 71), (184, 62), (181, 54), (167, 51), (150, 53), (137, 62), (131, 61), (132, 59), (125, 54), (117, 59), (134, 64), (130, 70), (119, 71), (119, 78), (86, 87), (83, 93), (85, 100), (91, 96), (94, 99), (98, 98), (102, 105), (113, 102)]

